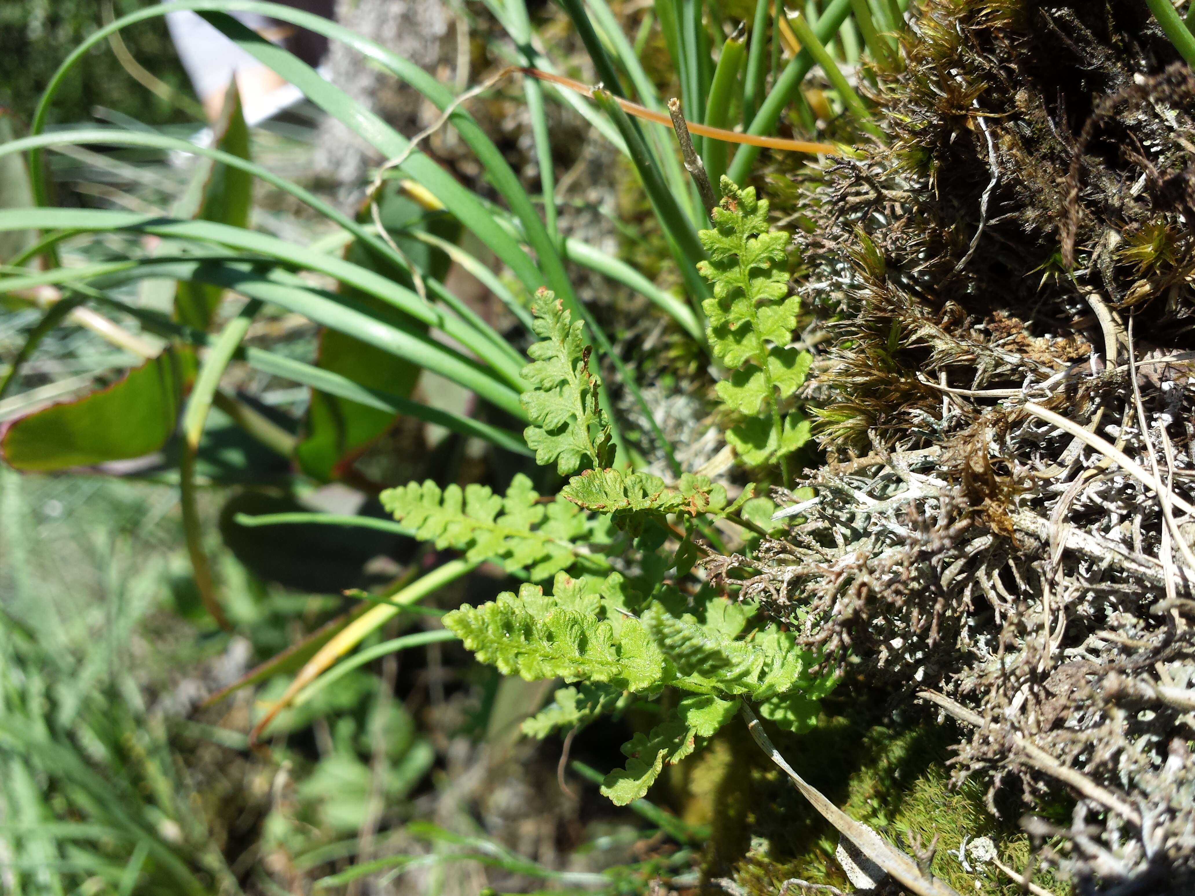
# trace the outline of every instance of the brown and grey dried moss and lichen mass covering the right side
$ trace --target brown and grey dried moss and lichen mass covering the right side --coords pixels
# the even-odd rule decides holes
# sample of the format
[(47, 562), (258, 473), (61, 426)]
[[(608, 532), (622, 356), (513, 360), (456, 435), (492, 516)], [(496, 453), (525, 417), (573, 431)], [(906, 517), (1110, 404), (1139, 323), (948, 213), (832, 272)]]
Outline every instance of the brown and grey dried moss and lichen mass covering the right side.
[(1195, 76), (1144, 2), (919, 6), (888, 146), (797, 209), (832, 461), (711, 571), (963, 723), (1078, 891), (1189, 892)]

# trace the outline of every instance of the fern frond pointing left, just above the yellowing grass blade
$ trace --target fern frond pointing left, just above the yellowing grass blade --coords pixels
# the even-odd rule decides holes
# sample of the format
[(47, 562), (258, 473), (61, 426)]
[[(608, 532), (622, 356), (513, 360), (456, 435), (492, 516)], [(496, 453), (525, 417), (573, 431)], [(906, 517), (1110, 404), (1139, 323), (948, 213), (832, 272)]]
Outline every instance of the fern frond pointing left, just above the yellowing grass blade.
[(531, 479), (517, 474), (505, 496), (484, 485), (449, 485), (441, 491), (430, 479), (381, 493), (382, 507), (434, 541), (439, 550), (465, 552), (471, 560), (496, 560), (511, 572), (526, 569), (543, 579), (568, 569), (576, 559), (574, 541), (587, 532), (584, 516), (564, 498), (540, 504)]

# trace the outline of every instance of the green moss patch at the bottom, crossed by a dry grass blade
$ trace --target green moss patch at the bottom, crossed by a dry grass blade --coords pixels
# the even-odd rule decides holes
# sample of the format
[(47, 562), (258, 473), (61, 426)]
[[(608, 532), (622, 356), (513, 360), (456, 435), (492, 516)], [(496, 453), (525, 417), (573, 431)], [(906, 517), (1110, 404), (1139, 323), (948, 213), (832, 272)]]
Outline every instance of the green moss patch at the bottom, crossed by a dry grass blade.
[[(853, 714), (853, 713), (852, 713)], [(1029, 840), (1010, 806), (994, 818), (983, 787), (967, 781), (952, 787), (945, 761), (950, 735), (938, 726), (905, 730), (868, 724), (862, 716), (823, 717), (816, 730), (777, 737), (777, 745), (797, 773), (851, 817), (871, 824), (906, 852), (938, 839), (933, 873), (960, 894), (1012, 896), (1019, 885), (992, 864), (958, 860), (963, 837), (989, 837), (1000, 860), (1021, 870), (1029, 860)], [(728, 757), (733, 761), (728, 761)], [(685, 767), (686, 818), (709, 822), (709, 877), (733, 877), (752, 896), (774, 896), (790, 878), (850, 890), (834, 858), (838, 831), (801, 797), (760, 753), (744, 730), (724, 731), (700, 762)], [(952, 854), (951, 854), (952, 853)], [(1049, 872), (1034, 882), (1050, 892), (1070, 892)]]

